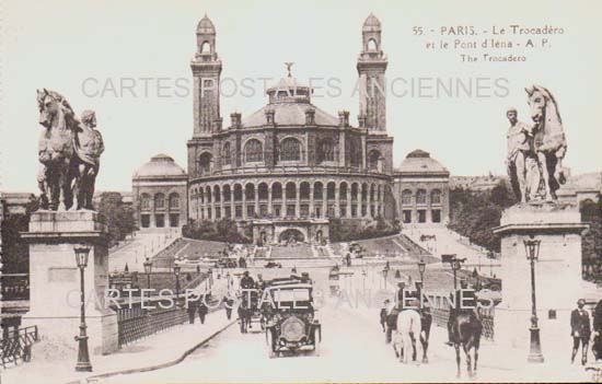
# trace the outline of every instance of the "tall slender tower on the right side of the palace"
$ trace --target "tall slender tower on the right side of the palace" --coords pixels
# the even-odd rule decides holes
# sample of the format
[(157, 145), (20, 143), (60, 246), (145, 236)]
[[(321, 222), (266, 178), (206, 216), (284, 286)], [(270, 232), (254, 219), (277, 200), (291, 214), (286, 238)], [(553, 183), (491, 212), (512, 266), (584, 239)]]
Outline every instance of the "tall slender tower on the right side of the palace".
[(361, 84), (359, 121), (370, 133), (386, 132), (386, 56), (381, 47), (381, 22), (372, 14), (361, 28), (362, 49), (358, 58), (358, 75)]

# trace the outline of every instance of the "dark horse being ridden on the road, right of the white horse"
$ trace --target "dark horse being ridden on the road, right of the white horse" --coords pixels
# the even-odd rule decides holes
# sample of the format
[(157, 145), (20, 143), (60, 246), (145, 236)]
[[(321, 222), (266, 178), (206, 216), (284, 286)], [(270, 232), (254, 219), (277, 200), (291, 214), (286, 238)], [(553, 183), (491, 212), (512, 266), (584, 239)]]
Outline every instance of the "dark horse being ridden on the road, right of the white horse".
[[(468, 376), (476, 374), (478, 361), (478, 348), (481, 346), (481, 335), (483, 333), (483, 323), (481, 319), (466, 312), (456, 311), (451, 324), (451, 339), (455, 349), (455, 363), (458, 365), (456, 376), (460, 377), (460, 347), (466, 356), (466, 366)], [(472, 363), (471, 350), (474, 349), (474, 365)]]

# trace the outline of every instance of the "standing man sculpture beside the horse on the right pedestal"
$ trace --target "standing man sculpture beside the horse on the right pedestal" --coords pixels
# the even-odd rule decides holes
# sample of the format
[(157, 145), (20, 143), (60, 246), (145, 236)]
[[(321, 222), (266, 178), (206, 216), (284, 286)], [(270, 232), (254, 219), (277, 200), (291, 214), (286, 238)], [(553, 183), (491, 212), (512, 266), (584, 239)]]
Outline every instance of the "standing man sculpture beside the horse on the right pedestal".
[(540, 189), (540, 168), (533, 149), (533, 128), (519, 121), (516, 108), (509, 108), (506, 117), (510, 121), (506, 137), (508, 142), (506, 164), (512, 191), (521, 202), (534, 200)]

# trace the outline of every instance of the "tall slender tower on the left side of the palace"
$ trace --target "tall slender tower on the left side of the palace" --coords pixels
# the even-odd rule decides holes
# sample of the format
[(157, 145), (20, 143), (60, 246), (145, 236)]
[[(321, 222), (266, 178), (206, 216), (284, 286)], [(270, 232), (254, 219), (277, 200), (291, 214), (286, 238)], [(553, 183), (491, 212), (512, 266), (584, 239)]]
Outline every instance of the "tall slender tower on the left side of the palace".
[(205, 15), (197, 26), (197, 51), (190, 69), (194, 77), (193, 137), (210, 136), (221, 129), (219, 82), (221, 60), (216, 53), (216, 27)]

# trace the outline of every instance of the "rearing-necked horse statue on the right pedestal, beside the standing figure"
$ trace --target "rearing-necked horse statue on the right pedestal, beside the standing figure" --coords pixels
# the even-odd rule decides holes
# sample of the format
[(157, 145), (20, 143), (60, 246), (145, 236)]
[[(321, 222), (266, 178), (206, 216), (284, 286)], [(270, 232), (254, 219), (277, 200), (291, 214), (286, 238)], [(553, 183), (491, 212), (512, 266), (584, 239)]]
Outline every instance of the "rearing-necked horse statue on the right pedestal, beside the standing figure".
[(531, 109), (533, 127), (533, 147), (537, 154), (543, 177), (545, 199), (556, 200), (556, 190), (566, 178), (563, 173), (563, 159), (567, 151), (567, 141), (563, 129), (563, 119), (556, 100), (543, 86), (532, 85), (525, 89)]

